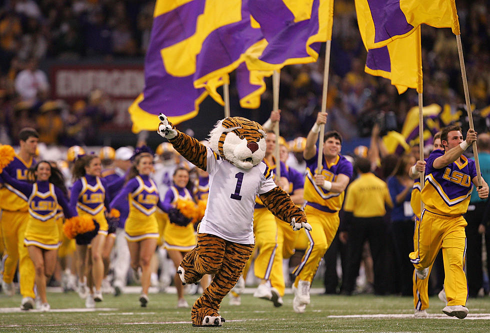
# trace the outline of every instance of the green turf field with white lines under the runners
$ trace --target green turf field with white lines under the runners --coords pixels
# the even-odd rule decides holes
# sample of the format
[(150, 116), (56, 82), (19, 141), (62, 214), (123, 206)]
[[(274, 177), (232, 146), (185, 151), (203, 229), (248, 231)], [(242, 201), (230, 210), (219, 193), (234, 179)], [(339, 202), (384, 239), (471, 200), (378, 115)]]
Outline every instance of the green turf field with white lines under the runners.
[[(189, 303), (196, 298), (186, 296)], [(227, 319), (220, 328), (193, 328), (190, 309), (176, 309), (174, 294), (150, 294), (148, 307), (141, 308), (138, 295), (119, 297), (105, 295), (97, 307), (114, 308), (95, 312), (0, 312), (0, 331), (124, 331), (124, 332), (195, 332), (196, 330), (227, 331), (341, 331), (341, 332), (489, 332), (488, 319), (455, 319), (446, 316), (430, 318), (359, 318), (332, 317), (336, 315), (413, 314), (412, 299), (398, 296), (338, 296), (311, 295), (311, 305), (303, 314), (292, 311), (292, 295), (284, 297), (284, 305), (274, 308), (272, 303), (256, 299), (250, 294), (241, 296), (242, 305), (228, 305), (226, 297), (220, 314)], [(0, 307), (18, 307), (20, 295), (0, 295)], [(74, 292), (48, 293), (52, 309), (83, 308), (84, 301)], [(442, 314), (443, 303), (430, 298), (429, 314)], [(489, 313), (490, 299), (469, 299), (470, 314)], [(443, 314), (442, 314), (443, 315)], [(173, 323), (183, 321), (183, 323)], [(172, 323), (164, 323), (172, 322)], [(15, 326), (13, 326), (15, 325)]]

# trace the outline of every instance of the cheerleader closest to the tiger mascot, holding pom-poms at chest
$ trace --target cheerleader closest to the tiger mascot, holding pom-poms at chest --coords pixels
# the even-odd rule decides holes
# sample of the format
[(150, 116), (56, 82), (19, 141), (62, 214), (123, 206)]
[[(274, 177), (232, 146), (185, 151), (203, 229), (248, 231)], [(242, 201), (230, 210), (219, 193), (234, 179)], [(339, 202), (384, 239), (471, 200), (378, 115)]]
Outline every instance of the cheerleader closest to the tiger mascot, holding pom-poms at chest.
[[(194, 204), (192, 194), (186, 187), (188, 182), (189, 171), (184, 167), (177, 167), (173, 172), (173, 185), (167, 190), (163, 200), (163, 206), (165, 211), (168, 211), (170, 219), (170, 223), (165, 226), (163, 231), (163, 245), (175, 268), (178, 267), (185, 253), (195, 246), (196, 238), (191, 218), (183, 216), (177, 209), (179, 200)], [(175, 273), (173, 280), (177, 288), (177, 307), (188, 307), (189, 305), (183, 297), (183, 285), (178, 273)]]

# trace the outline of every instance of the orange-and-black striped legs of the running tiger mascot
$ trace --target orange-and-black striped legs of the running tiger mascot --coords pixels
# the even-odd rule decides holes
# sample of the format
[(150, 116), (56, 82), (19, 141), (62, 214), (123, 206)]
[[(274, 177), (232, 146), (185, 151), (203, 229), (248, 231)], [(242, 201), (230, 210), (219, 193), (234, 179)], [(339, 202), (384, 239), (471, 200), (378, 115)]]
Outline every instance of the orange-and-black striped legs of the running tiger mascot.
[(209, 286), (192, 305), (191, 319), (200, 326), (206, 315), (219, 316), (219, 304), (236, 284), (252, 254), (254, 244), (239, 244), (221, 237), (197, 234), (197, 245), (180, 262), (186, 283), (199, 281), (204, 274), (214, 274)]

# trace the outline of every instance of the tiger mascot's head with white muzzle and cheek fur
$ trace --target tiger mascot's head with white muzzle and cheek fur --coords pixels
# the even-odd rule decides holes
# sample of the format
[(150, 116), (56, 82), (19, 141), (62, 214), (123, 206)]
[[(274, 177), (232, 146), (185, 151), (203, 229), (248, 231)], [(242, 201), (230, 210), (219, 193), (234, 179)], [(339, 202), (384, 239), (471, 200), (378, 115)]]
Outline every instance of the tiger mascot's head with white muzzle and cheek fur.
[(242, 169), (257, 165), (265, 156), (265, 131), (257, 122), (243, 117), (219, 120), (208, 140), (214, 152)]

